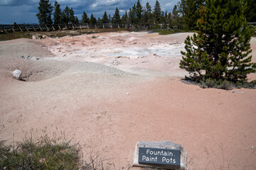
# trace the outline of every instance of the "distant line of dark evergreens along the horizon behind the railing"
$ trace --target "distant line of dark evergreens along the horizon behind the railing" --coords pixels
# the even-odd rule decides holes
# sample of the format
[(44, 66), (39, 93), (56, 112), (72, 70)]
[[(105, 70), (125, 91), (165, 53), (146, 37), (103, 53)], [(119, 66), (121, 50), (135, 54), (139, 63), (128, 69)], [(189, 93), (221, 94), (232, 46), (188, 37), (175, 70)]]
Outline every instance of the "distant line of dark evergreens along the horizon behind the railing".
[[(154, 8), (149, 2), (146, 6), (142, 6), (140, 1), (134, 4), (129, 11), (125, 11), (122, 17), (119, 14), (119, 9), (116, 7), (114, 15), (107, 15), (107, 12), (102, 15), (102, 18), (95, 18), (93, 13), (90, 18), (83, 11), (81, 20), (75, 16), (73, 8), (65, 6), (63, 11), (60, 8), (58, 1), (54, 5), (49, 3), (49, 0), (40, 0), (38, 5), (38, 13), (36, 14), (40, 24), (63, 24), (63, 23), (122, 23), (136, 25), (154, 25), (163, 24), (164, 27), (181, 28), (186, 30), (197, 30), (197, 21), (201, 17), (201, 6), (206, 4), (207, 0), (181, 0), (176, 4), (172, 11), (162, 11), (159, 1), (156, 1)], [(209, 0), (208, 0), (209, 1)], [(228, 0), (223, 0), (228, 1)], [(236, 1), (236, 0), (231, 0)], [(245, 17), (248, 22), (256, 22), (256, 0), (241, 0), (246, 6)]]

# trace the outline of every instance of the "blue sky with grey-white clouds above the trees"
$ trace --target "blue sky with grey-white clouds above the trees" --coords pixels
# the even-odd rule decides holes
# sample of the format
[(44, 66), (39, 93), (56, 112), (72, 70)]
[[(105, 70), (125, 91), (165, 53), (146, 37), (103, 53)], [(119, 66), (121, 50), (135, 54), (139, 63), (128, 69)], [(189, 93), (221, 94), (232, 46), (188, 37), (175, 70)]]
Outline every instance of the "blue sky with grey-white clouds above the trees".
[[(16, 23), (38, 23), (36, 13), (38, 13), (38, 4), (40, 0), (0, 0), (0, 24)], [(55, 0), (50, 0), (54, 5)], [(65, 6), (72, 7), (75, 11), (75, 16), (81, 18), (82, 12), (85, 11), (90, 17), (91, 13), (96, 18), (102, 18), (105, 11), (107, 15), (113, 15), (117, 7), (122, 16), (125, 11), (129, 11), (138, 0), (57, 0), (60, 8)], [(162, 11), (172, 11), (174, 5), (179, 0), (159, 0)], [(154, 8), (156, 0), (140, 0), (143, 7), (146, 2), (149, 2), (151, 8)]]

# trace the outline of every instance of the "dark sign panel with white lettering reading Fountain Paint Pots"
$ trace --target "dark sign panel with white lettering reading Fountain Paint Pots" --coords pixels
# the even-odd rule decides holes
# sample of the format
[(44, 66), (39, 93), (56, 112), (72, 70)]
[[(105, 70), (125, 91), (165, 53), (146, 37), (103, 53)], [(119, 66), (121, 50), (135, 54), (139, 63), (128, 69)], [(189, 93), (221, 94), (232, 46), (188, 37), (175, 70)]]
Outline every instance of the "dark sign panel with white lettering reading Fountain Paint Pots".
[(180, 166), (181, 151), (179, 149), (139, 147), (139, 164)]

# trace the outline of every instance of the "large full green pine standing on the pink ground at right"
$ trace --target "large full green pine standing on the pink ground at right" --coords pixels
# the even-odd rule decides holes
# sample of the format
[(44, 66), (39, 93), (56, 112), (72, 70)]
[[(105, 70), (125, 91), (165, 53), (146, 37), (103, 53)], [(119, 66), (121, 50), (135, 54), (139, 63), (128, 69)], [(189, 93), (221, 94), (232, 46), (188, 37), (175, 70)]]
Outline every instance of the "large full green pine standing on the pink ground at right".
[(237, 82), (256, 72), (256, 63), (248, 56), (255, 29), (247, 25), (244, 10), (238, 0), (206, 0), (201, 7), (198, 34), (186, 38), (186, 52), (181, 52), (180, 67), (194, 80)]

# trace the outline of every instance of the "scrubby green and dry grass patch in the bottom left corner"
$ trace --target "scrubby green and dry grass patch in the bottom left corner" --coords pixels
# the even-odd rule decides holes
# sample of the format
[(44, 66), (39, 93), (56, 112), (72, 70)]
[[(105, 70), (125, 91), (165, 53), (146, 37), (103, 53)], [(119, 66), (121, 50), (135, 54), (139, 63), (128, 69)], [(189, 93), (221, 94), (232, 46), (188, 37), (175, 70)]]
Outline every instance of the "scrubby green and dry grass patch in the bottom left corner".
[(0, 169), (82, 169), (80, 147), (47, 135), (26, 139), (17, 147), (0, 142)]

